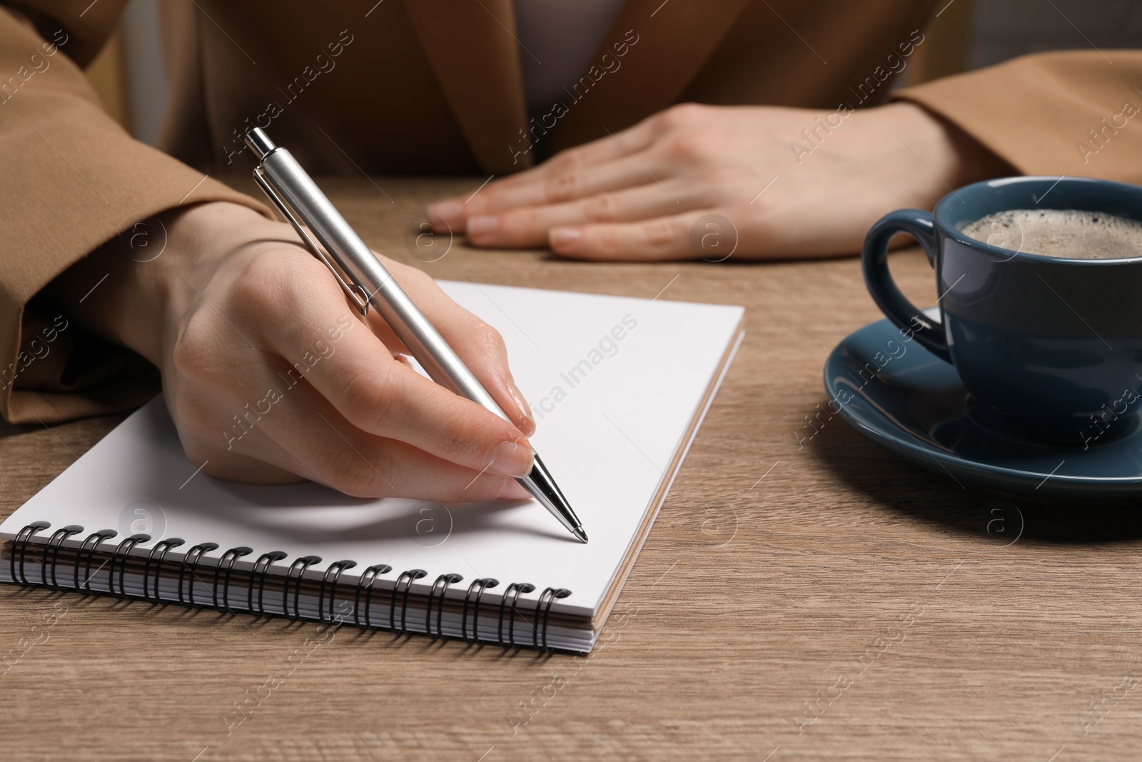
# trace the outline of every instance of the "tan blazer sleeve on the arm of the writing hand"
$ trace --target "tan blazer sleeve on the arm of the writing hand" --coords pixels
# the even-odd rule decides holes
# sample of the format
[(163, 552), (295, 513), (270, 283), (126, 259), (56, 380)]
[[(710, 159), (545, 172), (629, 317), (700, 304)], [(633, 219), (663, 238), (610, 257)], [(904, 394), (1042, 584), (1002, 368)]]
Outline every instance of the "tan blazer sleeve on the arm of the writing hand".
[(225, 200), (270, 215), (102, 110), (80, 65), (122, 5), (0, 7), (0, 412), (10, 423), (122, 411), (161, 388), (153, 366), (85, 334), (41, 294), (53, 279), (167, 209)]

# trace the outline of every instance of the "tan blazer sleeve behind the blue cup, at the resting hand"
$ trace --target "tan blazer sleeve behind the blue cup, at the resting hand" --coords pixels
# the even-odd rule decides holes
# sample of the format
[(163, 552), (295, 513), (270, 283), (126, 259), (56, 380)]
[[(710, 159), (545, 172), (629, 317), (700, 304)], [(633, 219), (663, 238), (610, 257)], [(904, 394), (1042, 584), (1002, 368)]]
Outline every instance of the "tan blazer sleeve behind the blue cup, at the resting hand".
[(1142, 50), (1067, 50), (893, 94), (943, 117), (1024, 175), (1142, 183)]

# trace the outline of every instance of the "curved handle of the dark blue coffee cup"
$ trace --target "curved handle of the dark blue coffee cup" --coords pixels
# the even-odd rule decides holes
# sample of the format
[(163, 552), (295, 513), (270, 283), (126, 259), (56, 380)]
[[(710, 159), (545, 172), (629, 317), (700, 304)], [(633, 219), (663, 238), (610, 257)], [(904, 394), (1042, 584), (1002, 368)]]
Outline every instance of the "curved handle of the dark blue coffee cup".
[(927, 254), (928, 264), (935, 267), (939, 238), (932, 214), (923, 209), (900, 209), (880, 217), (864, 236), (864, 248), (860, 255), (864, 284), (876, 306), (880, 307), (888, 320), (898, 328), (912, 331), (912, 337), (928, 352), (944, 362), (951, 362), (943, 326), (909, 302), (888, 273), (888, 239), (896, 233), (908, 233), (919, 241)]

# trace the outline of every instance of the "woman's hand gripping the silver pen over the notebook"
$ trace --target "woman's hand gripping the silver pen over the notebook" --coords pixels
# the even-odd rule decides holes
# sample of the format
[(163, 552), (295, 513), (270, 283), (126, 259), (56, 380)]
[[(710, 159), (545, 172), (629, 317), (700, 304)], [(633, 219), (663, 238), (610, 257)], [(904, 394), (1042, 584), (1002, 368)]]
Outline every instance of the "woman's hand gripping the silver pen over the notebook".
[[(160, 256), (137, 262), (112, 241), (62, 275), (54, 296), (159, 366), (195, 466), (360, 497), (528, 496), (512, 478), (531, 468), (534, 426), (504, 343), (427, 275), (381, 257), (514, 425), (396, 358), (407, 350), (388, 327), (349, 307), (288, 225), (231, 203), (159, 220)], [(67, 298), (107, 271), (82, 304)]]

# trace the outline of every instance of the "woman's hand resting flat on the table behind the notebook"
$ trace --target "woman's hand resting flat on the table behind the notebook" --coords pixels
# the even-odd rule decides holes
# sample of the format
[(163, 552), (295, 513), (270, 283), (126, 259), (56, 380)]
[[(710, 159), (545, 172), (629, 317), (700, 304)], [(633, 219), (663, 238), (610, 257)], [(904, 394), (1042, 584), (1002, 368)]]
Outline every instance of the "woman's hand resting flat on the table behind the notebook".
[(1014, 170), (908, 103), (684, 104), (428, 212), (475, 246), (580, 259), (820, 257), (859, 251), (887, 211), (1003, 174)]

